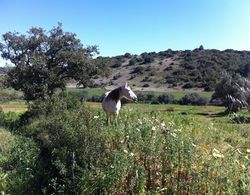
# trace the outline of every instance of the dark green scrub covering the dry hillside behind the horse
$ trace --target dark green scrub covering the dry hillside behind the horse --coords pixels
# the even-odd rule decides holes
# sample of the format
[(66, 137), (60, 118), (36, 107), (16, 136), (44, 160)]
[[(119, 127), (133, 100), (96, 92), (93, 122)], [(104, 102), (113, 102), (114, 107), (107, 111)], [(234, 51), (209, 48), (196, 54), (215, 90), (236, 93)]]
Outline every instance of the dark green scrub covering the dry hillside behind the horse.
[[(220, 51), (205, 49), (202, 45), (193, 51), (144, 52), (140, 55), (133, 55), (130, 59), (125, 56), (119, 56), (119, 58), (115, 56), (110, 59), (116, 59), (120, 62), (119, 67), (113, 68), (114, 72), (127, 74), (128, 71), (124, 71), (126, 69), (131, 72), (138, 66), (146, 68), (145, 71), (137, 75), (137, 78), (131, 77), (133, 83), (137, 85), (140, 85), (138, 82), (142, 80), (138, 77), (144, 78), (154, 71), (157, 84), (164, 83), (166, 87), (184, 86), (184, 88), (203, 88), (206, 91), (213, 91), (224, 71), (230, 75), (239, 73), (246, 78), (250, 74), (249, 51)], [(111, 67), (112, 64), (109, 66)], [(149, 66), (154, 68), (147, 69)], [(110, 77), (109, 80), (111, 79)], [(156, 83), (150, 82), (150, 86), (155, 86)]]

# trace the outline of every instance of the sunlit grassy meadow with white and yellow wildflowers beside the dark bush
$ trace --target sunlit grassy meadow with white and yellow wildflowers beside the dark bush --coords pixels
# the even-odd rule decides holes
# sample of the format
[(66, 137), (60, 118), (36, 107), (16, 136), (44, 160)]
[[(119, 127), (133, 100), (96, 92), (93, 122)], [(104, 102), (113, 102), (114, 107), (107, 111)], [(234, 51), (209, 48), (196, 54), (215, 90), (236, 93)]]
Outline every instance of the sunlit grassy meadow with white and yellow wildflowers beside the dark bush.
[[(99, 92), (93, 90), (94, 93)], [(110, 155), (108, 166), (93, 169), (98, 172), (91, 175), (91, 181), (98, 179), (105, 187), (111, 186), (109, 192), (250, 193), (250, 113), (247, 110), (227, 115), (224, 107), (217, 106), (129, 103), (122, 107), (115, 127), (105, 125), (100, 103), (86, 102), (86, 105), (93, 113), (90, 121), (98, 127), (95, 136), (105, 138)], [(0, 106), (5, 112), (27, 110), (24, 101)], [(235, 121), (242, 117), (245, 122)], [(0, 139), (6, 136), (11, 138), (10, 133), (0, 129)], [(5, 148), (8, 142), (0, 146)], [(88, 148), (94, 145), (84, 150)], [(99, 184), (91, 183), (89, 190), (98, 187)]]

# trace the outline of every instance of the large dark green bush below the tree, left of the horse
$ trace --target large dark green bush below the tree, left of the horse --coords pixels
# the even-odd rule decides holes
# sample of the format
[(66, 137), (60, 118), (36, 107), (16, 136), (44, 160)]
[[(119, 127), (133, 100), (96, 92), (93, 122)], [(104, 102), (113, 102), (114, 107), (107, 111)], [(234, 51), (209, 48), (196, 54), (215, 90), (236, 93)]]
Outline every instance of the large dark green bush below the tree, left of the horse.
[[(60, 94), (35, 101), (29, 113), (19, 133), (36, 140), (41, 150), (38, 153), (41, 169), (35, 175), (39, 186), (29, 188), (43, 190), (45, 194), (97, 194), (115, 189), (117, 178), (126, 171), (121, 166), (127, 163), (126, 154), (112, 150), (110, 131), (87, 106), (72, 96)], [(110, 164), (114, 163), (117, 165), (110, 175)]]

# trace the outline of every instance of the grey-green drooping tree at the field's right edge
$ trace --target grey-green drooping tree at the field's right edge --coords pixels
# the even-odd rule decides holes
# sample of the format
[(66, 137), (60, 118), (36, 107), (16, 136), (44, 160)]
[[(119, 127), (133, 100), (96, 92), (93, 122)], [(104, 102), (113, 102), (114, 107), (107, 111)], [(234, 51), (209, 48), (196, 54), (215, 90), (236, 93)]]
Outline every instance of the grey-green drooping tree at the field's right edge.
[(250, 81), (240, 75), (225, 73), (215, 88), (212, 99), (220, 99), (228, 112), (237, 112), (250, 105)]

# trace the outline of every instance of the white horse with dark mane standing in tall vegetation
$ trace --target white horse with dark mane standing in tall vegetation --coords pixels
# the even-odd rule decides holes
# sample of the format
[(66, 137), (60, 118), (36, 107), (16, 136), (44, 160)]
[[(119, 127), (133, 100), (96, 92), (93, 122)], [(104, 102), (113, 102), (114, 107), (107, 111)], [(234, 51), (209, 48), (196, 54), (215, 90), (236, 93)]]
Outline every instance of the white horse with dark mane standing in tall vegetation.
[(106, 112), (106, 123), (108, 125), (111, 115), (115, 117), (117, 124), (117, 117), (121, 109), (121, 99), (125, 98), (131, 101), (137, 102), (137, 96), (126, 83), (124, 86), (120, 86), (112, 91), (105, 93), (102, 101), (102, 108)]

